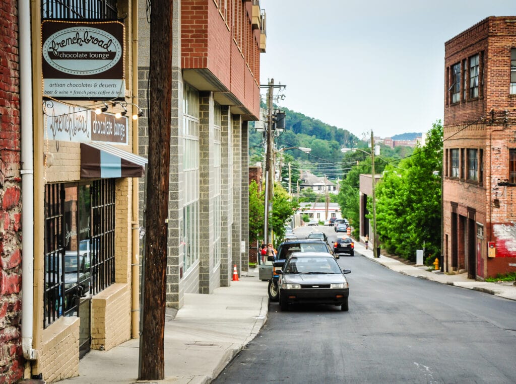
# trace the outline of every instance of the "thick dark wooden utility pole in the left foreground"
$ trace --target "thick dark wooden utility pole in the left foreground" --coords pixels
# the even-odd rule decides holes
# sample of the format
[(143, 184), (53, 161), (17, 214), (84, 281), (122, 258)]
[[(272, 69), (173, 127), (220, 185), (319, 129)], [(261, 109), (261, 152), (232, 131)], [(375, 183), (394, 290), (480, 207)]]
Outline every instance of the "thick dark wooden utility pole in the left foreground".
[[(165, 378), (170, 121), (172, 105), (172, 1), (153, 0), (149, 63), (149, 165), (145, 270), (140, 336), (140, 380)], [(133, 63), (136, 65), (136, 63)], [(136, 79), (135, 79), (136, 80)]]

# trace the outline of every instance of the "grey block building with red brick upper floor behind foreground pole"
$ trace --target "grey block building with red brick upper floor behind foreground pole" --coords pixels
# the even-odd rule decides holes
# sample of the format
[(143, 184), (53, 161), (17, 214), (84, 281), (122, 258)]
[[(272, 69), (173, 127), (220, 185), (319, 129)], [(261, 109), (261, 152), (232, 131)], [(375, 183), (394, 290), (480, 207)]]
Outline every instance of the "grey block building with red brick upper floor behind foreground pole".
[[(152, 52), (140, 2), (138, 73), (146, 107)], [(248, 268), (248, 121), (260, 113), (259, 1), (173, 2), (167, 306), (229, 286)], [(144, 121), (142, 121), (144, 123)], [(140, 154), (147, 129), (140, 124)], [(143, 195), (140, 196), (140, 202)], [(143, 206), (140, 204), (140, 206)]]

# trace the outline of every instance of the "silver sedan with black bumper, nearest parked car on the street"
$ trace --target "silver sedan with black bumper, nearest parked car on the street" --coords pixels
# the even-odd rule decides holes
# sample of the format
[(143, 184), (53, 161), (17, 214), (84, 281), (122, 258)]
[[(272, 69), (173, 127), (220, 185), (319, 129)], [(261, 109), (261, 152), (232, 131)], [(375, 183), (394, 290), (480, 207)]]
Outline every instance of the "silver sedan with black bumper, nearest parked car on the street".
[(349, 283), (337, 261), (326, 253), (294, 253), (279, 274), (278, 290), (280, 308), (288, 310), (291, 304), (340, 305), (349, 309)]

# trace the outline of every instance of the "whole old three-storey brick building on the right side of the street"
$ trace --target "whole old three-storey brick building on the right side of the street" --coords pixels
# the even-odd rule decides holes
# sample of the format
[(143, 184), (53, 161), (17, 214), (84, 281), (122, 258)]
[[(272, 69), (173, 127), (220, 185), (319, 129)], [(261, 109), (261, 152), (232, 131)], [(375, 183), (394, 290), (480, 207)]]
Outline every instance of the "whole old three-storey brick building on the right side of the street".
[(445, 43), (443, 256), (484, 279), (516, 257), (516, 16)]

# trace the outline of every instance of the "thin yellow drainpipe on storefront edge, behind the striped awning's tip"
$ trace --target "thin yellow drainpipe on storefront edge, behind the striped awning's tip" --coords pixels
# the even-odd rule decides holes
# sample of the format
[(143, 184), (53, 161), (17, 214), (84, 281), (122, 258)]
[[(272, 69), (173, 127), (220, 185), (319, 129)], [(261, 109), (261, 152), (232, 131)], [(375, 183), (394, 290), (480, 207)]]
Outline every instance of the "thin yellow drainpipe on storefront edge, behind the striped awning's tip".
[[(135, 95), (138, 95), (138, 0), (131, 3), (132, 9), (132, 61), (133, 61), (133, 85), (132, 97), (134, 102)], [(136, 103), (137, 104), (137, 103)], [(138, 113), (133, 105), (133, 114)], [(138, 120), (133, 120), (133, 153), (138, 154)], [(145, 176), (144, 176), (145, 177)], [(139, 264), (139, 223), (138, 223), (138, 178), (133, 178), (132, 193), (132, 220), (131, 220), (131, 338), (139, 337), (140, 325), (140, 303), (139, 303), (139, 283), (140, 283), (140, 264)]]

